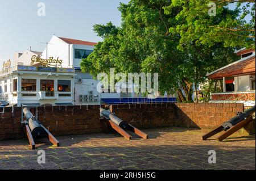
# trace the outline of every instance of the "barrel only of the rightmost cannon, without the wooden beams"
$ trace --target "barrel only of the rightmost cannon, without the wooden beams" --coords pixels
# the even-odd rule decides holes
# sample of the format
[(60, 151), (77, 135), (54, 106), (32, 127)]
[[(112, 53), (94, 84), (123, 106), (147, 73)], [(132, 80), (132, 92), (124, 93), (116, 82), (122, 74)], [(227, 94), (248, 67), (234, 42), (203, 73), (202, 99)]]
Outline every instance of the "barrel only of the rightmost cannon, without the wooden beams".
[(246, 117), (252, 115), (254, 112), (255, 112), (255, 106), (251, 107), (250, 109), (246, 110), (245, 112), (238, 113), (237, 116), (235, 116), (232, 119), (224, 122), (222, 124), (222, 127), (224, 127), (224, 129), (232, 128), (234, 125), (237, 125), (242, 120), (246, 119)]

